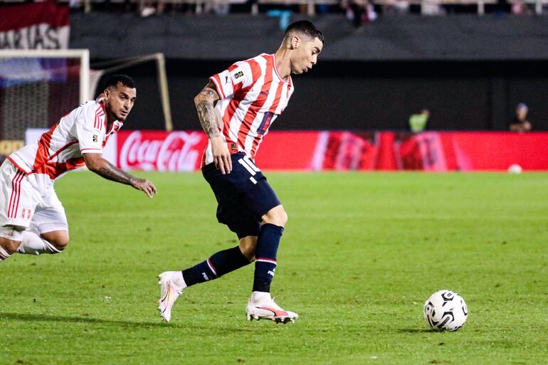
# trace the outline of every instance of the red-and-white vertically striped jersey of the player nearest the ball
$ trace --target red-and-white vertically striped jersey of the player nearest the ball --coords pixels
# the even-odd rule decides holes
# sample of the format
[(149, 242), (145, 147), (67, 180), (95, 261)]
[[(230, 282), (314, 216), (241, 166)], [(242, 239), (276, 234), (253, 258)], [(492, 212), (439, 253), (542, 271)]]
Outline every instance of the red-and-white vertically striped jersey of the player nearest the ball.
[[(294, 90), (291, 76), (283, 80), (275, 55), (263, 53), (238, 61), (209, 79), (221, 98), (215, 112), (223, 121), (228, 151), (243, 151), (253, 159), (268, 128), (288, 106)], [(213, 162), (211, 142), (203, 162)]]

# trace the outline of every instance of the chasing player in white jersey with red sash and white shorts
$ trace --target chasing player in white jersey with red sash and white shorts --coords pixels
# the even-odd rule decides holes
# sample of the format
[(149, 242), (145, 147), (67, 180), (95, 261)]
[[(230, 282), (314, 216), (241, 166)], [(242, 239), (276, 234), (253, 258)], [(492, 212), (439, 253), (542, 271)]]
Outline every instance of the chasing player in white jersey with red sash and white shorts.
[(14, 253), (60, 253), (68, 223), (53, 183), (87, 166), (105, 179), (144, 191), (156, 187), (102, 158), (107, 140), (123, 125), (135, 102), (135, 82), (126, 75), (107, 80), (103, 97), (83, 103), (39, 139), (9, 155), (0, 166), (0, 261)]

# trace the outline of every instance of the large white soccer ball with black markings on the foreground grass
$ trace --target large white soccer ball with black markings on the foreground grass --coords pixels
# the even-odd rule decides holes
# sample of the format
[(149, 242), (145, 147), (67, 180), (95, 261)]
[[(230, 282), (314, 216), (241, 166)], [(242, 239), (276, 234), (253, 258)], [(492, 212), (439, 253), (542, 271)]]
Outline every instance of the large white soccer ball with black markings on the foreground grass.
[(439, 290), (424, 303), (424, 320), (435, 331), (457, 331), (467, 318), (463, 297), (450, 290)]

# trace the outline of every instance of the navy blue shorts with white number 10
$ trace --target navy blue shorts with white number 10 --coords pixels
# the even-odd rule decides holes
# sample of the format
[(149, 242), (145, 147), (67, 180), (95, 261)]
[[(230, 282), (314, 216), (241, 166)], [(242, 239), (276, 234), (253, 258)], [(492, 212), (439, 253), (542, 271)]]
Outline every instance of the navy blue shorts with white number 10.
[(217, 220), (238, 238), (258, 236), (261, 217), (280, 205), (280, 200), (263, 173), (243, 152), (231, 155), (232, 171), (221, 174), (214, 163), (201, 172), (217, 199)]

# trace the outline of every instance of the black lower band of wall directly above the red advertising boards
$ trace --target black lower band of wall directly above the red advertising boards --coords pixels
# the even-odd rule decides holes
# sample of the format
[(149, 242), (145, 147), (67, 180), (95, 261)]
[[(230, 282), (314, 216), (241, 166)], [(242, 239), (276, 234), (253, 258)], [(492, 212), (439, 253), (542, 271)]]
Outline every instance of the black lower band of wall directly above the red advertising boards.
[[(230, 61), (168, 60), (175, 129), (199, 129), (194, 95)], [(156, 69), (123, 72), (137, 81), (127, 127), (163, 129)], [(548, 67), (506, 62), (320, 62), (293, 76), (295, 93), (275, 129), (405, 129), (409, 115), (427, 107), (430, 129), (504, 130), (518, 102), (529, 106), (534, 129), (548, 130)]]

